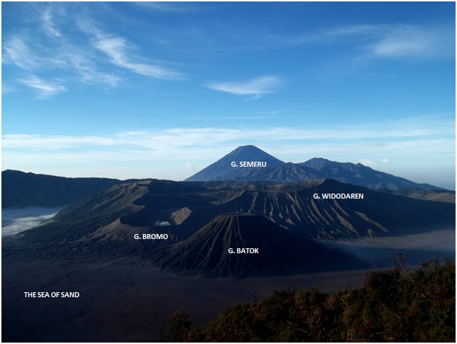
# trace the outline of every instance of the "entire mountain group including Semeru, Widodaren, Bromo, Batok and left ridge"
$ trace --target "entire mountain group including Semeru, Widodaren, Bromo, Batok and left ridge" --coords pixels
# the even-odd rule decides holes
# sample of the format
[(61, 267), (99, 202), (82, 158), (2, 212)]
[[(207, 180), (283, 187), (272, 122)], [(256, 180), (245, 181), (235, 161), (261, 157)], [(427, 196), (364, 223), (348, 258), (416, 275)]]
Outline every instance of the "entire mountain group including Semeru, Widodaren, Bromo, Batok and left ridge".
[[(232, 167), (232, 162), (266, 166)], [(74, 203), (19, 233), (21, 245), (6, 254), (30, 259), (139, 255), (159, 270), (212, 277), (365, 267), (311, 239), (454, 228), (455, 192), (432, 188), (361, 164), (321, 158), (285, 163), (254, 146), (237, 148), (185, 182), (6, 170), (2, 206)], [(229, 253), (229, 248), (257, 248), (259, 254)]]

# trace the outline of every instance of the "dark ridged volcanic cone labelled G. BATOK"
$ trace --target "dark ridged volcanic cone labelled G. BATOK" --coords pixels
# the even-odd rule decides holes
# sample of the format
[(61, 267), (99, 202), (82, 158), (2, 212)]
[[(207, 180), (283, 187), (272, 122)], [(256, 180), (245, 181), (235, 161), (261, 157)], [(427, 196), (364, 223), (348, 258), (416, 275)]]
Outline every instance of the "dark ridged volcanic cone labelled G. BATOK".
[[(232, 248), (235, 253), (229, 253)], [(259, 253), (236, 253), (256, 248)], [(213, 277), (251, 277), (361, 266), (349, 255), (298, 238), (250, 213), (223, 214), (190, 238), (152, 252), (161, 270)]]

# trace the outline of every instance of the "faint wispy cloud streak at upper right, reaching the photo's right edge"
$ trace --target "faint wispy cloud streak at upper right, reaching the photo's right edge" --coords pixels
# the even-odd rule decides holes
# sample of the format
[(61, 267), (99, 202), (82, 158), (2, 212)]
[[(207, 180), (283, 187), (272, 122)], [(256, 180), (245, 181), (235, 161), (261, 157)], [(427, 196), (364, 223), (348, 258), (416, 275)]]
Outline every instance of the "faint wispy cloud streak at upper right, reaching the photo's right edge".
[[(235, 31), (239, 35), (239, 30)], [(295, 35), (243, 30), (239, 41), (261, 49), (305, 45), (346, 45), (358, 58), (414, 58), (427, 60), (455, 55), (455, 27), (419, 26), (403, 23), (359, 24), (320, 28)], [(349, 51), (350, 51), (349, 50)]]

